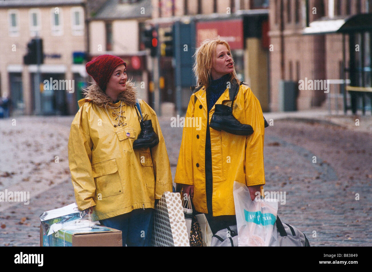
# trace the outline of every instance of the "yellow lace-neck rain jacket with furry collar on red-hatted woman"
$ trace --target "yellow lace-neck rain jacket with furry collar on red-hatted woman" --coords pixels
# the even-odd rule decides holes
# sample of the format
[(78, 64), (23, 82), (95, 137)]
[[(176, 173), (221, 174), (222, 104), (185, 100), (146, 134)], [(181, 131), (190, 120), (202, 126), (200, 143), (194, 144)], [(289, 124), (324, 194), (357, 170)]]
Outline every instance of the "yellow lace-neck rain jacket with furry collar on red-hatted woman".
[[(78, 101), (80, 109), (71, 124), (68, 161), (76, 202), (79, 210), (94, 207), (93, 220), (154, 208), (154, 199), (172, 190), (168, 154), (157, 116), (141, 99), (143, 118), (151, 119), (159, 143), (151, 149), (133, 149), (141, 127), (133, 105), (135, 93), (130, 87), (127, 84), (127, 90), (121, 93), (124, 97), (118, 97), (122, 100), (121, 117), (121, 102), (109, 103), (109, 97), (96, 85), (90, 88), (88, 99)], [(122, 124), (114, 127), (118, 122)]]

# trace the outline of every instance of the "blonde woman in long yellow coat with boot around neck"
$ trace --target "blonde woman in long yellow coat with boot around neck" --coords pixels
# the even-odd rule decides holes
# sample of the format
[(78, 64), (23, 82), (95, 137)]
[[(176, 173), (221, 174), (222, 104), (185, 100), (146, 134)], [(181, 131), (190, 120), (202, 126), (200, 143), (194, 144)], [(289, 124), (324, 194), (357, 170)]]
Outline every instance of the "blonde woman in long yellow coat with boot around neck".
[(234, 181), (248, 186), (252, 201), (265, 184), (265, 121), (259, 100), (237, 79), (227, 42), (205, 40), (195, 57), (198, 86), (186, 118), (200, 118), (202, 128), (183, 128), (174, 182), (191, 196), (215, 234), (236, 225)]

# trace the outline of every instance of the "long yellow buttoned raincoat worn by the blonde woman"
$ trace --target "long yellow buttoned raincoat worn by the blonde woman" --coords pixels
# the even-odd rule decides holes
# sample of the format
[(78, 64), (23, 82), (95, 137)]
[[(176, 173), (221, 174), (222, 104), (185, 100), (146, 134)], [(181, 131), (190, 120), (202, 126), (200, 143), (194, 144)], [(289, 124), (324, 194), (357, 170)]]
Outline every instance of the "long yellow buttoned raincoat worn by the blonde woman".
[[(237, 93), (237, 95), (236, 95)], [(232, 96), (235, 96), (235, 99)], [(230, 99), (231, 98), (231, 99)], [(249, 136), (210, 129), (212, 153), (212, 209), (213, 216), (234, 215), (234, 181), (247, 186), (265, 184), (263, 165), (264, 119), (261, 105), (245, 84), (232, 83), (216, 104), (231, 106), (232, 114), (241, 124), (251, 125)], [(229, 104), (230, 103), (230, 104)], [(209, 112), (209, 122), (215, 106)], [(207, 126), (205, 86), (194, 90), (186, 112), (182, 143), (174, 182), (194, 186), (195, 209), (208, 213), (205, 189), (205, 137)], [(196, 118), (201, 129), (193, 125)], [(199, 130), (198, 130), (199, 129)]]

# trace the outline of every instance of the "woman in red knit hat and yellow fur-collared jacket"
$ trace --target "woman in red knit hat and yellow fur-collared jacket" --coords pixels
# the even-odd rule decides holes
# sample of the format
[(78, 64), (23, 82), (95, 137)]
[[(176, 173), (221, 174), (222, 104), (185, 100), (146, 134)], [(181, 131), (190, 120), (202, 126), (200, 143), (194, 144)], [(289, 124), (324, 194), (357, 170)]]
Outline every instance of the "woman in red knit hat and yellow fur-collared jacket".
[(157, 116), (136, 98), (121, 58), (101, 55), (86, 70), (96, 82), (78, 101), (68, 140), (78, 208), (121, 230), (123, 245), (149, 245), (155, 199), (172, 190)]

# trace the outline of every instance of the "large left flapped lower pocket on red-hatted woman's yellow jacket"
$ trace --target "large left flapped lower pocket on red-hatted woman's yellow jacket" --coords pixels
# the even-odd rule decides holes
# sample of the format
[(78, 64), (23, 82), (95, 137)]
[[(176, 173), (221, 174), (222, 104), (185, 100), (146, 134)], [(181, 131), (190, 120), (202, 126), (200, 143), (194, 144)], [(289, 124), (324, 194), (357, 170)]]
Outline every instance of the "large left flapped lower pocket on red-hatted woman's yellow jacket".
[(97, 198), (119, 195), (123, 192), (116, 159), (92, 164)]

